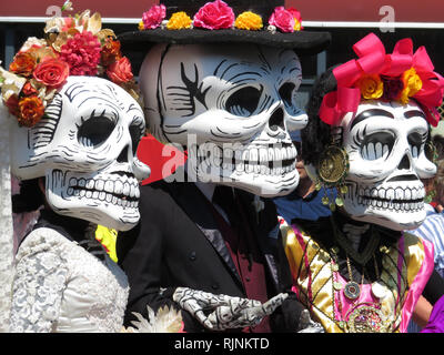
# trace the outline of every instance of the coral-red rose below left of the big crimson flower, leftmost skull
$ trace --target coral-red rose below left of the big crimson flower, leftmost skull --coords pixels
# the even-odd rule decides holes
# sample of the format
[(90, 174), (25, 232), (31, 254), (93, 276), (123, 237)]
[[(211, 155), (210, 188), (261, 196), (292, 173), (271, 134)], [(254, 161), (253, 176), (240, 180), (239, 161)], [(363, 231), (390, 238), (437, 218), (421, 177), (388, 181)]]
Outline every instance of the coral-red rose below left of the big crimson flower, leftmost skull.
[(38, 82), (51, 89), (60, 88), (69, 77), (70, 69), (68, 63), (51, 58), (37, 65), (33, 77)]

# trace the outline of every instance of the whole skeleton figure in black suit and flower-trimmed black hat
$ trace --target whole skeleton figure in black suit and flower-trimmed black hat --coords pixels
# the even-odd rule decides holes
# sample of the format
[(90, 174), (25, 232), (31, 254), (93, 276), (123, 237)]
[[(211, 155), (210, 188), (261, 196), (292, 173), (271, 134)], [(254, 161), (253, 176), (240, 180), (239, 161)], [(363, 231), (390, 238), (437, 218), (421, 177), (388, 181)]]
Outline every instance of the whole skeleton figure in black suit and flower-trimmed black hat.
[(297, 54), (323, 50), (330, 36), (294, 31), (295, 10), (282, 4), (164, 1), (141, 31), (120, 36), (125, 50), (148, 53), (139, 78), (150, 131), (188, 150), (184, 170), (142, 186), (141, 222), (118, 241), (127, 323), (167, 304), (186, 332), (300, 326), (275, 207), (259, 196), (297, 185), (287, 131), (306, 124)]

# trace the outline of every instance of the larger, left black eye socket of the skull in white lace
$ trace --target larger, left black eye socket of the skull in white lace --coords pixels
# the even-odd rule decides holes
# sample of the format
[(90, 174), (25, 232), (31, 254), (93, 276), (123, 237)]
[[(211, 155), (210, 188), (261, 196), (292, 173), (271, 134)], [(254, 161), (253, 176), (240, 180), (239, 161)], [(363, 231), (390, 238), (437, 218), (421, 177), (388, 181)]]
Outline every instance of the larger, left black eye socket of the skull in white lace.
[(91, 118), (79, 126), (78, 141), (85, 146), (97, 146), (111, 135), (115, 123), (105, 116)]

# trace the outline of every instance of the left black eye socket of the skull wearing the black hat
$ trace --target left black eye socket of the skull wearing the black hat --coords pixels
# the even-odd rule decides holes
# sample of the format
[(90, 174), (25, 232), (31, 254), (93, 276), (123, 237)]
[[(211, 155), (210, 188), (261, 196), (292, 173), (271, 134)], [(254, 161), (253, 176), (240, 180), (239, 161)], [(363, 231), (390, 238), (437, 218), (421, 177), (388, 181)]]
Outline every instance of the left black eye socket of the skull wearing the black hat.
[(235, 115), (250, 116), (259, 106), (262, 91), (262, 87), (260, 90), (254, 87), (246, 87), (235, 91), (226, 100), (225, 110)]

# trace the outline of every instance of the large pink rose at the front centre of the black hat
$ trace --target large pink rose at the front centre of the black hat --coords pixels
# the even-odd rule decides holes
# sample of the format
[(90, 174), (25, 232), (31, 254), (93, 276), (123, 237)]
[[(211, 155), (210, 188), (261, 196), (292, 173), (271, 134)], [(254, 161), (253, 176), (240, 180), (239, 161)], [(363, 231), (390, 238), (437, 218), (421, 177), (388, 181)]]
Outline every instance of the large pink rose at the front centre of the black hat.
[(194, 27), (209, 30), (229, 29), (234, 23), (234, 12), (225, 2), (215, 0), (205, 3), (194, 16)]

